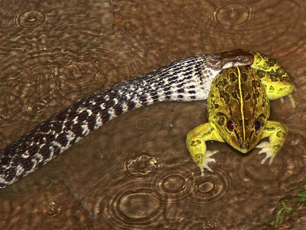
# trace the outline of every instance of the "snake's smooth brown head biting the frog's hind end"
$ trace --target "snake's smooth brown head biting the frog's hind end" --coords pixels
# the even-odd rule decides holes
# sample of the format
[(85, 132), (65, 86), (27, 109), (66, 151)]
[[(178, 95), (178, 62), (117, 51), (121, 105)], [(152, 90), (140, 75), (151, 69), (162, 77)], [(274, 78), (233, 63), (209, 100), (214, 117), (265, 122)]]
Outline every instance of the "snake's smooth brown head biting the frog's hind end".
[(254, 55), (243, 49), (234, 49), (215, 54), (220, 61), (221, 69), (227, 69), (239, 65), (251, 65), (254, 62)]

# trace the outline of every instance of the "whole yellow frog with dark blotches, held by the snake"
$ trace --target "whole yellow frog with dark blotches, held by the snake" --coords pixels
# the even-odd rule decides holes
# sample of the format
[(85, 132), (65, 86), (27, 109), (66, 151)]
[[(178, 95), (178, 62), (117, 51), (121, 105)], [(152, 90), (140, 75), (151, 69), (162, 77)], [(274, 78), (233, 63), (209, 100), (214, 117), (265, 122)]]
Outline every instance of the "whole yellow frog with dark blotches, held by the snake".
[[(201, 176), (204, 169), (213, 172), (210, 162), (219, 150), (207, 150), (206, 141), (227, 142), (242, 154), (259, 148), (266, 153), (271, 165), (288, 136), (288, 126), (268, 120), (270, 100), (288, 96), (292, 109), (296, 107), (292, 93), (295, 84), (284, 67), (275, 59), (248, 50), (254, 55), (249, 66), (235, 66), (222, 70), (212, 81), (207, 98), (208, 122), (191, 130), (186, 145)], [(260, 140), (268, 138), (268, 141)]]

